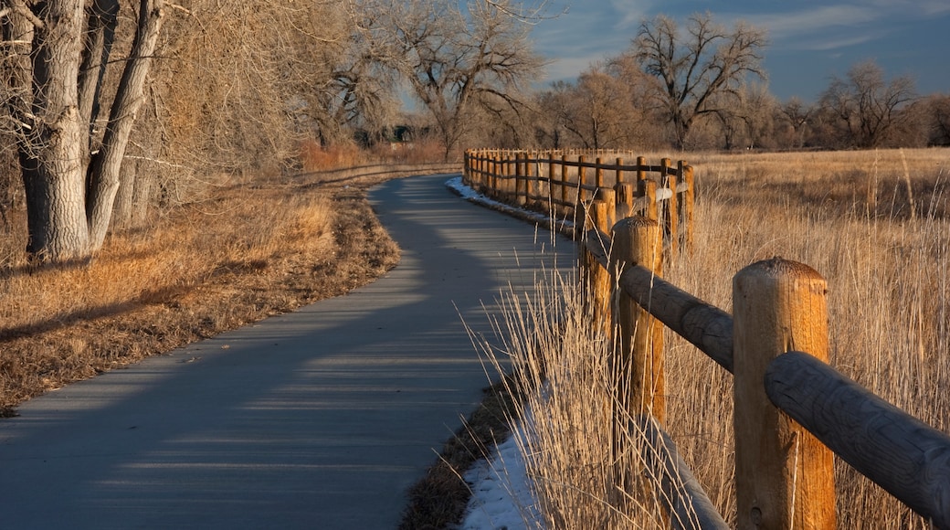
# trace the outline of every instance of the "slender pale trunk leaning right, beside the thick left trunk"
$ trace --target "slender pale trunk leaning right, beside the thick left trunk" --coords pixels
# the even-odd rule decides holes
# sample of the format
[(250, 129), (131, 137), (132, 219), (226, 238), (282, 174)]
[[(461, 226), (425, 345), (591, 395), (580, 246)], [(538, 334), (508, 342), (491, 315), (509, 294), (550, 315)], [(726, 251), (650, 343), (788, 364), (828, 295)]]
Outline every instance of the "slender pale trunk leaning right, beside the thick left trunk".
[(109, 113), (103, 146), (93, 158), (86, 199), (89, 239), (93, 250), (102, 247), (108, 232), (109, 219), (116, 192), (119, 190), (120, 169), (136, 114), (142, 106), (145, 78), (151, 66), (152, 55), (161, 33), (163, 0), (141, 0), (139, 24), (129, 61), (123, 70), (116, 100)]

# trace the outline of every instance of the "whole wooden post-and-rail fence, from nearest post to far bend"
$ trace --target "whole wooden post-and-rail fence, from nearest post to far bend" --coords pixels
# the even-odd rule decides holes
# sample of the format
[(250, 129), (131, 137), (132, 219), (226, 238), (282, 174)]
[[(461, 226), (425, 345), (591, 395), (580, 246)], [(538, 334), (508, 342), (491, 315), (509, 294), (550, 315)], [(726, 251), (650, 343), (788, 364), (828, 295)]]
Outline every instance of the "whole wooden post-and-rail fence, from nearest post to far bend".
[[(532, 182), (546, 182), (561, 192), (570, 185), (561, 177), (551, 180), (555, 169), (542, 176), (524, 169), (525, 164), (561, 163), (580, 168), (581, 176), (590, 167), (582, 160), (565, 163), (521, 153), (513, 161), (496, 157), (467, 153), (466, 181), (525, 202), (545, 199), (533, 191)], [(618, 161), (616, 167), (621, 166)], [(615, 169), (615, 185), (626, 184), (619, 172), (628, 169), (622, 167)], [(653, 169), (641, 163), (637, 167)], [(689, 174), (692, 188), (689, 166), (660, 167), (661, 175)], [(663, 491), (658, 497), (675, 527), (727, 526), (662, 430), (664, 325), (733, 375), (738, 528), (834, 528), (833, 455), (935, 527), (950, 528), (950, 436), (828, 366), (826, 281), (821, 274), (781, 258), (753, 263), (732, 279), (730, 315), (662, 279), (664, 246), (675, 245), (664, 245), (669, 231), (661, 222), (630, 216), (637, 210), (623, 201), (618, 213), (618, 201), (599, 195), (604, 189), (599, 180), (593, 189), (583, 177), (578, 182), (573, 185), (579, 194), (596, 194), (592, 201), (580, 196), (547, 200), (578, 208), (579, 216), (582, 209), (592, 221), (580, 235), (580, 277), (592, 294), (597, 321), (613, 337), (618, 352), (613, 362), (627, 374), (615, 388), (615, 428), (638, 429), (660, 449), (639, 462), (659, 478)], [(636, 468), (629, 456), (633, 449), (622, 442), (629, 438), (619, 432), (614, 436), (611, 449), (619, 476)]]

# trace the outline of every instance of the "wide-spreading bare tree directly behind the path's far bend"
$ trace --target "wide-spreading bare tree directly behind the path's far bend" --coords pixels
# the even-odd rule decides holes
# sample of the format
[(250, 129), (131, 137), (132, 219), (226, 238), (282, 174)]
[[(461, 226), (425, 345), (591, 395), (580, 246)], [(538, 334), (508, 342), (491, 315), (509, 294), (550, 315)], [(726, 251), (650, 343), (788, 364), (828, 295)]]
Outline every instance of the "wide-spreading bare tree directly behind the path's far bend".
[(540, 73), (542, 60), (517, 4), (364, 0), (354, 7), (373, 56), (399, 72), (428, 111), (446, 159), (476, 108), (503, 104), (514, 121), (525, 110), (523, 87)]

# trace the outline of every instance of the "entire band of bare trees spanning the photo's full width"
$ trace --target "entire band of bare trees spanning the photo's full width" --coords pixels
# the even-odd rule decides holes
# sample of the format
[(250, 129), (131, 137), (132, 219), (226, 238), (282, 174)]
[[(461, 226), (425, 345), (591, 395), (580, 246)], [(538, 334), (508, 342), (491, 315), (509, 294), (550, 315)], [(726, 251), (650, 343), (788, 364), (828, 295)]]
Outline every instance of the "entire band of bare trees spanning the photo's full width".
[(0, 0), (0, 213), (25, 205), (33, 259), (86, 259), (216, 184), (293, 171), (301, 142), (394, 131), (446, 160), (487, 144), (950, 143), (950, 96), (873, 63), (816, 104), (776, 101), (766, 33), (710, 14), (644, 21), (617, 57), (538, 90), (530, 29), (547, 16), (546, 0)]

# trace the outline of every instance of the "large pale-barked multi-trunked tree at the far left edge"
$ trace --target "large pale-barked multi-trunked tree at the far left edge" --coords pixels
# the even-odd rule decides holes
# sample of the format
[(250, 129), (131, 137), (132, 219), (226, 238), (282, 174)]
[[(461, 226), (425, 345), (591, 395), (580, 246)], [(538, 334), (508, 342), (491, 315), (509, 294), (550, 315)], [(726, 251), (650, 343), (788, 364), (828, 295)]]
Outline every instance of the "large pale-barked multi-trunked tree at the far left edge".
[(110, 104), (103, 102), (103, 79), (118, 0), (6, 0), (0, 6), (10, 50), (3, 60), (7, 132), (17, 142), (26, 191), (28, 253), (53, 261), (89, 256), (108, 229), (164, 2), (138, 3), (134, 42)]

